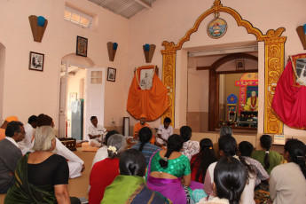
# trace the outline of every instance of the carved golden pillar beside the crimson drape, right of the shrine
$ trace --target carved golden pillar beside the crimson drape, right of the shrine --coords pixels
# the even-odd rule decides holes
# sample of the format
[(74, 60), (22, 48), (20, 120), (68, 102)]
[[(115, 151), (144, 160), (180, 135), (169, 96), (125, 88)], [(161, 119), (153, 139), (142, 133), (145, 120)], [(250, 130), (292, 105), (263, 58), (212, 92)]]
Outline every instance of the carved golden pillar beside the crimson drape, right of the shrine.
[[(274, 36), (273, 36), (274, 35)], [(264, 38), (264, 133), (281, 134), (284, 125), (272, 113), (271, 104), (279, 76), (284, 71), (284, 50), (286, 37), (275, 36), (274, 31), (268, 31)]]

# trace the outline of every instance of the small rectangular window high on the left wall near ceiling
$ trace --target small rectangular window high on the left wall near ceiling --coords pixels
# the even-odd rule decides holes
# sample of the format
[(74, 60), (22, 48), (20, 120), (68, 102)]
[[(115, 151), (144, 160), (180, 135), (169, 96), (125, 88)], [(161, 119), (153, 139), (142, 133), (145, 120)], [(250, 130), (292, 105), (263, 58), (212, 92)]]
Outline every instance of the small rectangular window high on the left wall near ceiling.
[(70, 7), (65, 7), (64, 19), (79, 25), (80, 27), (91, 27), (93, 18), (83, 12), (76, 11)]

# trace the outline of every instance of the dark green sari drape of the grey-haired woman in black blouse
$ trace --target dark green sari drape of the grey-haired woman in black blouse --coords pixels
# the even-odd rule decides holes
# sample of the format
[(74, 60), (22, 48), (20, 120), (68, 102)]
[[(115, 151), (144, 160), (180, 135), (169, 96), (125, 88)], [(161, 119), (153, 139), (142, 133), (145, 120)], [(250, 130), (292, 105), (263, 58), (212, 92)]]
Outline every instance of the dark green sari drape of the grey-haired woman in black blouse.
[(28, 153), (20, 159), (15, 170), (15, 183), (8, 190), (4, 204), (57, 203), (52, 184), (36, 187), (27, 182), (27, 159)]

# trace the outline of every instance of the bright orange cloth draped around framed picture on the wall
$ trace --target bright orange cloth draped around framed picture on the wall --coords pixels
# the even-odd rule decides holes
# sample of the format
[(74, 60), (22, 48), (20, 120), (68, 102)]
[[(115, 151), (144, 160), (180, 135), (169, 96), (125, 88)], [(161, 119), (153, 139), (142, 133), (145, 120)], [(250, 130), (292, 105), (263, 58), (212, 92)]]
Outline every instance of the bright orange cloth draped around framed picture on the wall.
[(153, 84), (150, 90), (141, 90), (139, 87), (140, 70), (154, 68), (154, 66), (138, 67), (129, 87), (127, 111), (134, 118), (139, 119), (145, 114), (145, 120), (152, 122), (158, 119), (169, 107), (168, 91), (158, 75), (153, 74)]

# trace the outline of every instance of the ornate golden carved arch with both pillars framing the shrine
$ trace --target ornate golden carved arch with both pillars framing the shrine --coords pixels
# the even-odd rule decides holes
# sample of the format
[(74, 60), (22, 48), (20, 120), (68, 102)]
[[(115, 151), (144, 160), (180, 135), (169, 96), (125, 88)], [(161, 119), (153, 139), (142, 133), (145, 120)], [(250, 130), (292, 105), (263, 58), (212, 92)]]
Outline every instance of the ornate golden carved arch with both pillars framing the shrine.
[(286, 43), (286, 36), (281, 36), (286, 30), (284, 27), (279, 27), (277, 30), (268, 30), (266, 35), (263, 35), (262, 31), (258, 28), (253, 27), (253, 25), (247, 21), (243, 20), (238, 12), (231, 9), (230, 7), (225, 7), (221, 4), (220, 0), (216, 0), (213, 6), (208, 9), (208, 11), (203, 12), (198, 20), (195, 21), (192, 28), (190, 28), (186, 34), (178, 41), (177, 44), (173, 42), (164, 41), (162, 45), (165, 50), (161, 51), (163, 58), (163, 69), (162, 69), (162, 79), (166, 87), (169, 90), (169, 109), (163, 114), (162, 121), (165, 117), (171, 118), (174, 122), (174, 110), (175, 110), (175, 88), (176, 88), (176, 55), (177, 50), (182, 49), (185, 42), (190, 40), (192, 33), (196, 32), (200, 26), (202, 20), (204, 20), (208, 15), (217, 12), (226, 12), (230, 14), (237, 22), (238, 26), (245, 27), (247, 33), (256, 36), (258, 42), (264, 42), (265, 56), (264, 56), (264, 70), (265, 70), (265, 82), (264, 82), (264, 133), (282, 133), (283, 123), (271, 112), (271, 102), (273, 95), (268, 87), (271, 83), (276, 83), (279, 81), (279, 76), (284, 69), (284, 49)]

